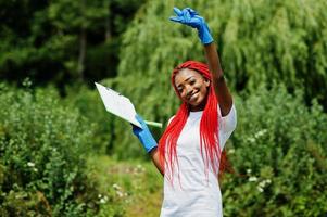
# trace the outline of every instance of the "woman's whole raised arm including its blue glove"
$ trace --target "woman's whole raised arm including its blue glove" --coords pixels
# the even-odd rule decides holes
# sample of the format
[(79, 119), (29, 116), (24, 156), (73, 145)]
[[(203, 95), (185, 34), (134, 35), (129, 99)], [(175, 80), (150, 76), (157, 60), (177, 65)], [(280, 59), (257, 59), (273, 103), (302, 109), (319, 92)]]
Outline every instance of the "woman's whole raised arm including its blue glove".
[(191, 26), (198, 30), (199, 38), (204, 46), (209, 68), (212, 74), (212, 82), (219, 102), (221, 114), (226, 116), (232, 106), (232, 98), (223, 77), (218, 53), (210, 29), (204, 18), (190, 8), (184, 10), (174, 8), (174, 12), (176, 16), (171, 16), (171, 21)]

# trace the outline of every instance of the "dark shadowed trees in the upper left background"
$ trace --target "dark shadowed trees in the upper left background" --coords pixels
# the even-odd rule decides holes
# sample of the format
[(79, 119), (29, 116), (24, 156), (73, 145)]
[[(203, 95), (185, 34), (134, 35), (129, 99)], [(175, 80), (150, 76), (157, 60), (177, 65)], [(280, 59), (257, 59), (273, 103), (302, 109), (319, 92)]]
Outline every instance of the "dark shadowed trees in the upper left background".
[(144, 1), (3, 1), (0, 78), (36, 85), (116, 75), (122, 33)]

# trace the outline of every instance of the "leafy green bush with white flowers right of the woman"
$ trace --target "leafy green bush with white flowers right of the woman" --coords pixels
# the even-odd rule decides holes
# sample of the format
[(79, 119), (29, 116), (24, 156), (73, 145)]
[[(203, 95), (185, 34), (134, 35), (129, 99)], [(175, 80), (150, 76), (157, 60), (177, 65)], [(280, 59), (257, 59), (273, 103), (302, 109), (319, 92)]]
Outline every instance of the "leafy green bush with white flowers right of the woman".
[[(323, 216), (327, 212), (327, 115), (303, 92), (260, 87), (237, 99), (238, 126), (227, 144), (237, 173), (223, 181), (226, 216)], [(237, 175), (241, 176), (237, 176)]]

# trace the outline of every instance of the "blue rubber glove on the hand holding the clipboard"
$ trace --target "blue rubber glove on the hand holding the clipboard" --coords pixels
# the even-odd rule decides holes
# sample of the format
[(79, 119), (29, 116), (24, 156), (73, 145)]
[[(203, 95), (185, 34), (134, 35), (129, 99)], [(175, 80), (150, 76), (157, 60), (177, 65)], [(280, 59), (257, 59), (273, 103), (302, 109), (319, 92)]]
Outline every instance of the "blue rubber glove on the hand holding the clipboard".
[(156, 141), (152, 137), (144, 120), (139, 115), (136, 115), (136, 119), (141, 124), (142, 129), (133, 125), (133, 132), (140, 140), (146, 151), (150, 153), (151, 150), (158, 146)]

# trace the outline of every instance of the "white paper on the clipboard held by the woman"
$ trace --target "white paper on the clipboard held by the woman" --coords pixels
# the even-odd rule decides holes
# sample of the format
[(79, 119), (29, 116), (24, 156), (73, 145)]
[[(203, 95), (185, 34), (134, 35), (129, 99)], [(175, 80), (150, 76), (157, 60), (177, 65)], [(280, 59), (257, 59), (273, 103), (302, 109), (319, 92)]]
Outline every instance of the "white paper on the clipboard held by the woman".
[(95, 84), (108, 112), (142, 128), (135, 117), (136, 111), (128, 98), (98, 82)]

